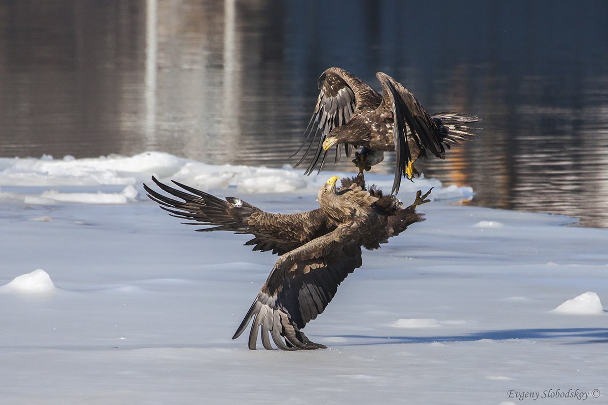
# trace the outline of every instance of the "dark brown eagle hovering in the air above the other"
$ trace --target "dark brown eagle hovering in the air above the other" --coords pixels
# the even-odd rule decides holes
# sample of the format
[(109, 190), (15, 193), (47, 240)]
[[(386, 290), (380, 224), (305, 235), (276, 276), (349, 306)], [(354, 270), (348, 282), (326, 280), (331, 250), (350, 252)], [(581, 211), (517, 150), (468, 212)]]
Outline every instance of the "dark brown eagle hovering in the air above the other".
[(305, 174), (318, 166), (321, 170), (327, 150), (334, 145), (336, 162), (344, 151), (350, 156), (351, 148), (363, 147), (353, 160), (359, 171), (370, 170), (384, 159), (385, 151), (395, 151), (395, 180), (392, 192), (399, 191), (401, 176), (412, 179), (418, 173), (413, 162), (426, 157), (427, 151), (440, 159), (445, 148), (458, 145), (474, 136), (466, 124), (479, 118), (461, 112), (438, 112), (432, 116), (415, 99), (413, 94), (387, 74), (378, 72), (382, 95), (370, 86), (339, 67), (330, 67), (319, 77), (319, 98), (300, 148), (305, 147), (305, 161), (314, 151)]

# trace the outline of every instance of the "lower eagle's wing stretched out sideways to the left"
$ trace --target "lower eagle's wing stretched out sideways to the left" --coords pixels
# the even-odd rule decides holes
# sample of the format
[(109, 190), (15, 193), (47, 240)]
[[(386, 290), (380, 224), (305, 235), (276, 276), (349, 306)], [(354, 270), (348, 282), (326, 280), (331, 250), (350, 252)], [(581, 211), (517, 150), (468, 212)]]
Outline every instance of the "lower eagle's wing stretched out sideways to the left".
[(226, 197), (224, 200), (176, 181), (174, 184), (185, 191), (154, 177), (152, 180), (162, 190), (179, 198), (162, 195), (143, 185), (148, 197), (170, 215), (193, 221), (185, 224), (210, 226), (197, 229), (201, 232), (229, 230), (237, 234), (252, 234), (254, 238), (245, 244), (254, 246), (254, 251), (272, 251), (282, 255), (336, 228), (320, 209), (294, 214), (269, 213), (240, 198)]

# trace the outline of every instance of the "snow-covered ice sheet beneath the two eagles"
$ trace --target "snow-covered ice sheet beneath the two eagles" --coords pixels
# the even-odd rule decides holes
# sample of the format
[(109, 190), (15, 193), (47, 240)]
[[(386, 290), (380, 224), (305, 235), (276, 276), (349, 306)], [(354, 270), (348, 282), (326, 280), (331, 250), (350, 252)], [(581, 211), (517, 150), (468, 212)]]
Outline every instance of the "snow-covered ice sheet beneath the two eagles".
[[(424, 223), (364, 252), (305, 329), (330, 348), (249, 351), (230, 338), (276, 257), (241, 246), (247, 235), (179, 224), (143, 195), (152, 174), (274, 212), (316, 207), (334, 175), (164, 153), (0, 159), (0, 403), (513, 404), (533, 401), (510, 390), (549, 389), (597, 389), (587, 402), (606, 403), (608, 314), (552, 310), (586, 291), (606, 300), (608, 230), (452, 204), (472, 190), (404, 182), (406, 203), (429, 187), (455, 199), (424, 205)], [(29, 292), (9, 291), (27, 273)]]

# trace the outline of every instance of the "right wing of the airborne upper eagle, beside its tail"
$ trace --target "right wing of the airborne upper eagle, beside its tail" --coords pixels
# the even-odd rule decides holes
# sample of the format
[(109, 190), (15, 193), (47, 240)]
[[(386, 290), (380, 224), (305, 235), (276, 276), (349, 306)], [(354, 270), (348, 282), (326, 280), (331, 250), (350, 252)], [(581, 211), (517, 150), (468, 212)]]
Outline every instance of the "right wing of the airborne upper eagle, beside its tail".
[(376, 77), (382, 84), (382, 103), (378, 107), (382, 111), (379, 112), (392, 111), (393, 114), (396, 170), (392, 192), (397, 192), (401, 176), (406, 176), (407, 165), (415, 161), (419, 154), (425, 156), (428, 150), (440, 159), (446, 156), (441, 141), (446, 137), (447, 130), (438, 125), (401, 83), (382, 72), (378, 72)]

